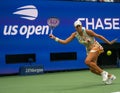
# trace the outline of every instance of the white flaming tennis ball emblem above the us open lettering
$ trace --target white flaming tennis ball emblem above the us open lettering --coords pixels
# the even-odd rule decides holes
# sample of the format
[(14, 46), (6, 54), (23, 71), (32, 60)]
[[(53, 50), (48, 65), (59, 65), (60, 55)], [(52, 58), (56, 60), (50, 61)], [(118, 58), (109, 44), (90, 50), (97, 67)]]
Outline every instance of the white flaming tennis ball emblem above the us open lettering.
[(17, 11), (13, 14), (20, 15), (20, 17), (24, 19), (35, 20), (38, 17), (38, 10), (33, 5), (26, 5), (17, 8)]

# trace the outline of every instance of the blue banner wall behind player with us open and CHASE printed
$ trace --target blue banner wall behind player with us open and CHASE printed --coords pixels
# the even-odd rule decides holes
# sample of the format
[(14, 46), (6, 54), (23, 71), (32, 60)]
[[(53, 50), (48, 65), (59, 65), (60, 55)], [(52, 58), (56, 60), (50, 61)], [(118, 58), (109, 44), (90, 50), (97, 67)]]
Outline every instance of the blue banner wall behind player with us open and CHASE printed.
[[(53, 34), (61, 39), (75, 31), (73, 23), (79, 19), (84, 28), (112, 40), (120, 36), (119, 10), (119, 3), (0, 1), (0, 74), (18, 73), (19, 67), (26, 65), (6, 64), (5, 56), (15, 54), (36, 54), (33, 64), (43, 65), (45, 71), (87, 68), (84, 64), (85, 48), (77, 40), (67, 45), (51, 40), (47, 20), (51, 17), (59, 19), (60, 23)], [(51, 62), (50, 53), (59, 52), (76, 52), (77, 59)]]

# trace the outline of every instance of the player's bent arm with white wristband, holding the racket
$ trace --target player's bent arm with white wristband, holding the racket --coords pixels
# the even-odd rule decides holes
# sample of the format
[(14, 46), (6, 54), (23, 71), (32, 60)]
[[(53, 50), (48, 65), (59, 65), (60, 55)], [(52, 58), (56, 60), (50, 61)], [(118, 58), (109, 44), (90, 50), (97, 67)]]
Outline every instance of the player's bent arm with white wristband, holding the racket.
[(60, 39), (60, 38), (54, 36), (53, 34), (50, 34), (49, 37), (50, 37), (51, 39), (54, 39), (55, 41), (61, 43), (61, 44), (67, 44), (67, 43), (69, 43), (70, 41), (72, 41), (72, 40), (75, 38), (75, 34), (76, 34), (75, 32), (72, 33), (72, 34), (71, 34), (68, 38), (66, 38), (65, 40)]

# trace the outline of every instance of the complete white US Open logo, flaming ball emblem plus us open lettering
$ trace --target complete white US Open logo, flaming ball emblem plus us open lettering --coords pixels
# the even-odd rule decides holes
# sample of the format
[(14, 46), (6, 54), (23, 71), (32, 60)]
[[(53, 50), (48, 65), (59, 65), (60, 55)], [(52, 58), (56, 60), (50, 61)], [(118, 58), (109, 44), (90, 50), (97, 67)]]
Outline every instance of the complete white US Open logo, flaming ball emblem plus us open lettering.
[[(26, 5), (17, 8), (17, 11), (13, 13), (14, 15), (19, 15), (20, 18), (27, 19), (28, 21), (33, 21), (38, 17), (38, 10), (34, 5)], [(29, 39), (32, 35), (48, 35), (49, 26), (48, 25), (4, 25), (3, 35), (4, 36), (15, 36), (15, 35), (25, 36)]]

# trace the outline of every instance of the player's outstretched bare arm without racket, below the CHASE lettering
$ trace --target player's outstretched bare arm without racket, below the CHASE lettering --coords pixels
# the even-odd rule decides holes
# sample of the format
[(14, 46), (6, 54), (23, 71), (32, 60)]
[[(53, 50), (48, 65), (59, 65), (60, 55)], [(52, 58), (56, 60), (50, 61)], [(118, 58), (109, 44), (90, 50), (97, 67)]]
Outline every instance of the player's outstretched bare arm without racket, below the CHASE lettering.
[(109, 41), (105, 37), (103, 37), (102, 35), (96, 34), (92, 30), (87, 30), (87, 34), (89, 34), (90, 36), (99, 38), (99, 39), (103, 40), (105, 43), (110, 44), (110, 45), (113, 44), (113, 43), (115, 43), (117, 41), (117, 38), (114, 39), (114, 40), (112, 40), (112, 41)]

